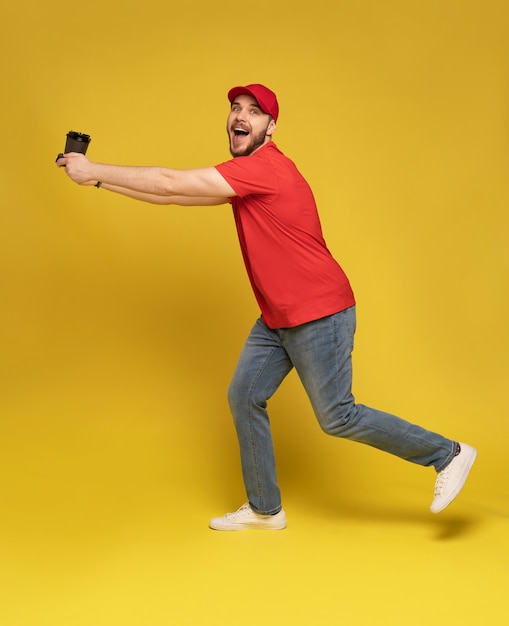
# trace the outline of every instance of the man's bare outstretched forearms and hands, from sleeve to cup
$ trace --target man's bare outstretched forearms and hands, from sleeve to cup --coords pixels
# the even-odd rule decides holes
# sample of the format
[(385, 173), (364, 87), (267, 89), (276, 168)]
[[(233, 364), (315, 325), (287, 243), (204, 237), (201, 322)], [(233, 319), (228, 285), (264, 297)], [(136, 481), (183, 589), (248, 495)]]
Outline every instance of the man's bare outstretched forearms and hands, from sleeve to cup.
[[(175, 170), (163, 167), (132, 167), (94, 163), (83, 154), (70, 152), (59, 158), (59, 167), (79, 185), (95, 185), (157, 204), (222, 204), (235, 196), (232, 187), (214, 167)], [(134, 192), (134, 193), (133, 193)], [(141, 196), (140, 196), (141, 194)], [(148, 194), (145, 195), (145, 194)], [(185, 201), (189, 198), (189, 202)]]

